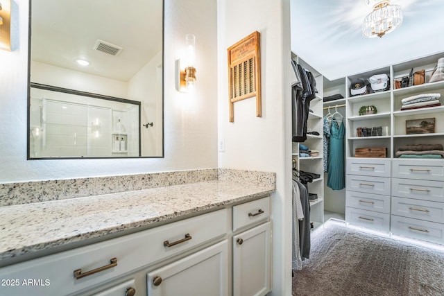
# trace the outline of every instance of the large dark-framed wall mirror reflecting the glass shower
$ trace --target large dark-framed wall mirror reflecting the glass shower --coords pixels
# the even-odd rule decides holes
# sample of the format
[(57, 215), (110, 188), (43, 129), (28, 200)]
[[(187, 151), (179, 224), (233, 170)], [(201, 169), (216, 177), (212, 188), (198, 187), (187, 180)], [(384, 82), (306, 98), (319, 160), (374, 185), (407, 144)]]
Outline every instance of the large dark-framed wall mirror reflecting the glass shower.
[(163, 0), (32, 0), (28, 159), (163, 157)]

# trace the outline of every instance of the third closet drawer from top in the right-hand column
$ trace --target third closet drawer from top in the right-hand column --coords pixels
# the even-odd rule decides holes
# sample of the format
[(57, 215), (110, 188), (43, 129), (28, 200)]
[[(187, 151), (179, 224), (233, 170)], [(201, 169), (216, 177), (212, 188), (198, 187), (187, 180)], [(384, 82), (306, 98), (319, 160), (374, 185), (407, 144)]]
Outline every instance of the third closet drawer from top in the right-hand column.
[(444, 203), (413, 200), (411, 198), (391, 198), (391, 213), (407, 218), (444, 223)]

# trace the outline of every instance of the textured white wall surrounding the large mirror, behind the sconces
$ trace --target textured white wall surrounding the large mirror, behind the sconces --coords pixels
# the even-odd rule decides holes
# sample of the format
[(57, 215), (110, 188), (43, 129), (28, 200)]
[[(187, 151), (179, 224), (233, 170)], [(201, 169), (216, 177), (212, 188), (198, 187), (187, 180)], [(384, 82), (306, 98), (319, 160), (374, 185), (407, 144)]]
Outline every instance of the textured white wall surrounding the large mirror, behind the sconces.
[[(164, 158), (26, 160), (28, 1), (12, 5), (12, 51), (0, 50), (0, 182), (217, 166), (216, 1), (165, 0)], [(198, 87), (176, 92), (175, 62), (196, 35)]]

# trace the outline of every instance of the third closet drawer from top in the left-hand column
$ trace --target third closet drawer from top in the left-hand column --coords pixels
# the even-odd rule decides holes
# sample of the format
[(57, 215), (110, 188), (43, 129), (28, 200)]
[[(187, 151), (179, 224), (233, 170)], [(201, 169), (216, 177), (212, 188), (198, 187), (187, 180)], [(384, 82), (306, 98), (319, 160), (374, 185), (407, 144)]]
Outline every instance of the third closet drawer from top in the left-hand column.
[(390, 214), (390, 196), (346, 191), (345, 206)]

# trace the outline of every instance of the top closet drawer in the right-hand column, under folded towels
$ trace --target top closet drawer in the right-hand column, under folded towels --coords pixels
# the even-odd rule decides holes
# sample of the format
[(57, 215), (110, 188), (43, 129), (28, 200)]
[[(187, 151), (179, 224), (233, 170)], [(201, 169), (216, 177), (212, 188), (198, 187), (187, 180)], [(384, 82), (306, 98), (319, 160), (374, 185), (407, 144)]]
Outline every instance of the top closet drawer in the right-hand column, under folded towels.
[(393, 159), (393, 177), (416, 180), (444, 180), (441, 159)]

